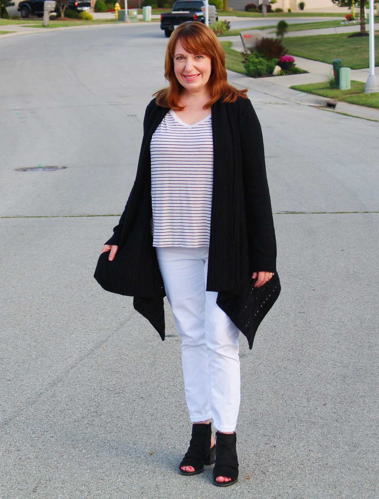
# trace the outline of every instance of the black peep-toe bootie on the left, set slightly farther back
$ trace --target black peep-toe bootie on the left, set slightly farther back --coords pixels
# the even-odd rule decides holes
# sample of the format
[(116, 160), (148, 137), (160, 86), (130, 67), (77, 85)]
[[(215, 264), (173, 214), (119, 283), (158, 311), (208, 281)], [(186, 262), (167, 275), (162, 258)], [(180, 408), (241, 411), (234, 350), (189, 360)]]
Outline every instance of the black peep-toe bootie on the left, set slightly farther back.
[[(215, 446), (210, 448), (210, 439), (212, 436), (211, 423), (208, 425), (192, 425), (192, 435), (189, 441), (189, 448), (179, 465), (181, 475), (196, 475), (204, 471), (204, 465), (214, 463)], [(192, 466), (195, 471), (183, 471), (182, 466)]]

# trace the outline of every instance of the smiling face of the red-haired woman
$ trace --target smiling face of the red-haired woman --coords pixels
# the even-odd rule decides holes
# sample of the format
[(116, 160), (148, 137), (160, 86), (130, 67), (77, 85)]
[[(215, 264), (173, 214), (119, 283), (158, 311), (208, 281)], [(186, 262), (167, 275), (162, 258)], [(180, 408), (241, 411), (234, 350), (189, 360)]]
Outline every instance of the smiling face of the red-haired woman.
[(204, 54), (187, 52), (177, 41), (174, 53), (174, 71), (179, 83), (189, 92), (206, 88), (212, 70), (211, 58)]

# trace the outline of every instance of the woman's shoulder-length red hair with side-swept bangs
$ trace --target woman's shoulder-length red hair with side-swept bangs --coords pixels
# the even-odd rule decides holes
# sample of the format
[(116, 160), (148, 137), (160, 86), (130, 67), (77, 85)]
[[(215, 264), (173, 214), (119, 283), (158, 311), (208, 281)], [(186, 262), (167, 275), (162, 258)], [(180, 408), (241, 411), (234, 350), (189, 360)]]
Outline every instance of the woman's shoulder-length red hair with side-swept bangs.
[(202, 22), (187, 21), (173, 31), (167, 45), (165, 78), (169, 80), (170, 86), (153, 94), (159, 106), (168, 107), (174, 111), (184, 109), (179, 105), (183, 86), (179, 83), (174, 71), (175, 47), (178, 41), (187, 52), (207, 55), (212, 61), (212, 70), (207, 83), (210, 100), (205, 104), (204, 109), (212, 106), (220, 97), (223, 97), (224, 102), (235, 102), (238, 97), (247, 99), (247, 88), (237, 90), (227, 82), (225, 53), (217, 36)]

